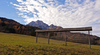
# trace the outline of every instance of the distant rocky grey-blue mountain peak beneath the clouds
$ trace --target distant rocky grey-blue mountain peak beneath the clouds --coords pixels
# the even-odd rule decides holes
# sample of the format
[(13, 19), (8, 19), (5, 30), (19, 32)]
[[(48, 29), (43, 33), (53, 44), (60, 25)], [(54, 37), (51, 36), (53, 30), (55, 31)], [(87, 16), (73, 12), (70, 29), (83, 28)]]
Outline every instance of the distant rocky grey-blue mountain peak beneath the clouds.
[(29, 24), (30, 26), (35, 26), (35, 27), (39, 27), (41, 29), (61, 29), (62, 27), (60, 26), (55, 26), (53, 24), (51, 24), (50, 26), (46, 23), (44, 23), (43, 21), (37, 20), (37, 21), (32, 21)]

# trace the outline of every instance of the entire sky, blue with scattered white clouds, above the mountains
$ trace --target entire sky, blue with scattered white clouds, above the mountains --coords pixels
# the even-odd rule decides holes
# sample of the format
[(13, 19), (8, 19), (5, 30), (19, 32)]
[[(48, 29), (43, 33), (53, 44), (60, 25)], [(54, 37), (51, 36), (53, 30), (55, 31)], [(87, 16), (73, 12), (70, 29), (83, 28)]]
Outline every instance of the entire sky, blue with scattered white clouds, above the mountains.
[(93, 27), (100, 36), (100, 0), (0, 0), (0, 17), (21, 24), (42, 20), (48, 25)]

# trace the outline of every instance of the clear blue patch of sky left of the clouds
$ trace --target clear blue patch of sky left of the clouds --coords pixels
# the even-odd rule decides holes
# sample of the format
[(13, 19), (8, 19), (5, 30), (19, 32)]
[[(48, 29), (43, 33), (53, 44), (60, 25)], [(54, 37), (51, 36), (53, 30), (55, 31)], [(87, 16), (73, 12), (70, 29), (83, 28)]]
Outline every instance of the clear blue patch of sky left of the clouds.
[(18, 4), (16, 0), (0, 0), (0, 17), (6, 17), (25, 24), (24, 18), (18, 16), (18, 10), (10, 2)]

